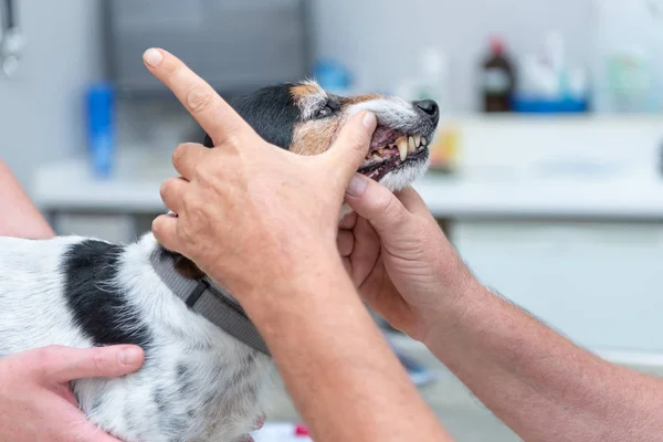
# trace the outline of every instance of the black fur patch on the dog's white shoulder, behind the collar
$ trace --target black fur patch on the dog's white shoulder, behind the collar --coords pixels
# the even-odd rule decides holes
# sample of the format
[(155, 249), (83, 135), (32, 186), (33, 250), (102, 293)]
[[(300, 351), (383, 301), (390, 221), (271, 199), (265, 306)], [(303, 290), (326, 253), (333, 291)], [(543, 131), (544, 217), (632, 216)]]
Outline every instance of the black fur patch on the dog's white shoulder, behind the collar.
[(95, 345), (135, 344), (146, 349), (150, 333), (117, 287), (122, 245), (85, 240), (64, 254), (64, 296), (76, 325)]

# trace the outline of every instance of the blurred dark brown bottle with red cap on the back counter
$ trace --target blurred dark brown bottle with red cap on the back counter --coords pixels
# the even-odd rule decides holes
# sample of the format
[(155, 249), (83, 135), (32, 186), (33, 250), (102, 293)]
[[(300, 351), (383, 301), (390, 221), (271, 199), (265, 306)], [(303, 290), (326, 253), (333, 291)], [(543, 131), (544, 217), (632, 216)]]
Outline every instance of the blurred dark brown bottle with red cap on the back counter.
[(491, 40), (491, 53), (483, 63), (482, 91), (484, 112), (512, 112), (512, 95), (516, 87), (515, 69), (505, 54), (504, 41)]

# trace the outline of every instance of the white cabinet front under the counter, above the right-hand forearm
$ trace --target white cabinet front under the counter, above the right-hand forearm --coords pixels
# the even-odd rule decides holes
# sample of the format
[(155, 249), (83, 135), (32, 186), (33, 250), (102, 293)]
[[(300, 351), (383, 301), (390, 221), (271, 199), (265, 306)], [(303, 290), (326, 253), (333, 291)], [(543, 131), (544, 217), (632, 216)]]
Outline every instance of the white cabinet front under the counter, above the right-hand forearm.
[(591, 349), (663, 351), (663, 227), (460, 222), (477, 276)]

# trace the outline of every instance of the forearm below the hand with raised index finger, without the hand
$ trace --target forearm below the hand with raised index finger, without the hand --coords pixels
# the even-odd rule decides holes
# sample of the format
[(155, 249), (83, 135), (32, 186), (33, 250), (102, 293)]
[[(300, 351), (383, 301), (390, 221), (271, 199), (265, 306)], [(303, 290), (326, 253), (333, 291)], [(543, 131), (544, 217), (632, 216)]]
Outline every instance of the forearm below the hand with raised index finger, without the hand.
[(340, 262), (254, 299), (246, 311), (316, 441), (451, 440)]

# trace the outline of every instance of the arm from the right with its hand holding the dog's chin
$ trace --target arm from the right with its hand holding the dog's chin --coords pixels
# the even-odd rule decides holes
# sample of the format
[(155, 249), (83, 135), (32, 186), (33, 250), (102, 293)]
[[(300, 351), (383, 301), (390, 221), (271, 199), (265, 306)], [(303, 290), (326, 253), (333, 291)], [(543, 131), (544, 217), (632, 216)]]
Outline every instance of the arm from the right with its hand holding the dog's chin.
[(412, 189), (397, 199), (364, 185), (348, 196), (362, 218), (339, 233), (361, 295), (524, 440), (663, 439), (663, 380), (598, 358), (484, 288)]

